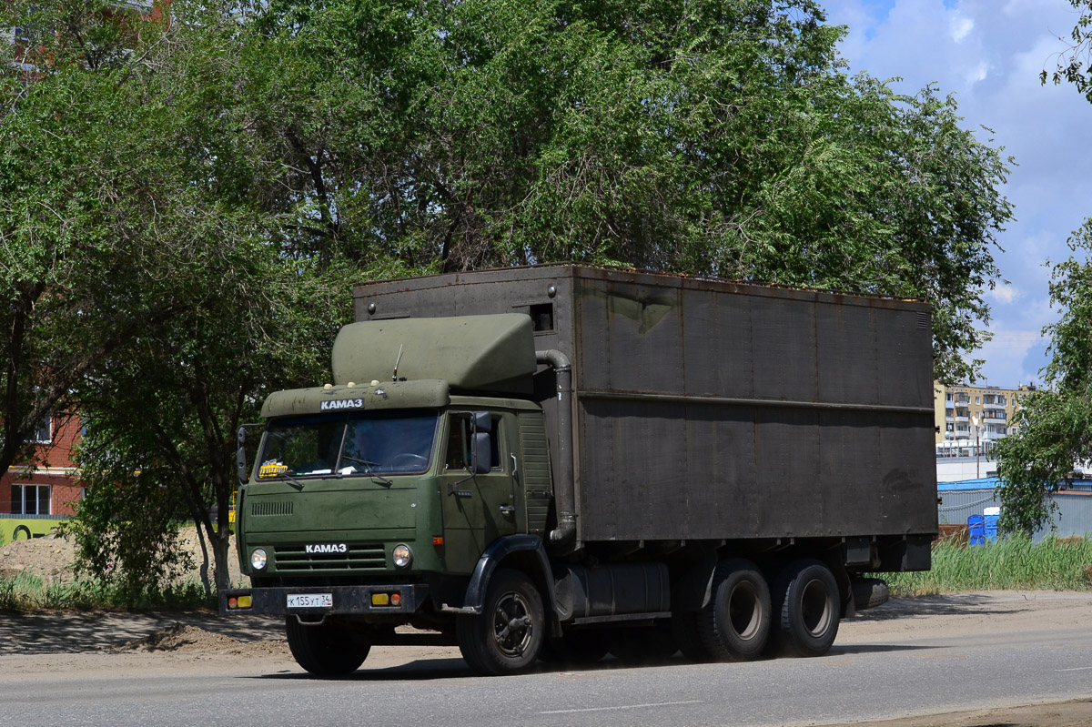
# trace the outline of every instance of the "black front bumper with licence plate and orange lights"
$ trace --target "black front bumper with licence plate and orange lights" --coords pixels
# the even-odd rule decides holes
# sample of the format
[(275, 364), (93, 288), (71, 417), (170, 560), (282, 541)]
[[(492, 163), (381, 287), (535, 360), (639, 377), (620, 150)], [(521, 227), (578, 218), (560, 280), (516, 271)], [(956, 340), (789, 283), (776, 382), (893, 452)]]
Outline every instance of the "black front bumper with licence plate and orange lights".
[[(376, 595), (387, 595), (388, 604), (391, 594), (399, 594), (401, 603), (397, 606), (375, 605)], [(317, 596), (329, 594), (331, 606), (312, 607), (289, 607), (288, 596)], [(248, 608), (229, 608), (228, 603), (239, 598), (250, 597)], [(360, 586), (276, 586), (269, 588), (235, 588), (219, 594), (219, 612), (225, 616), (236, 613), (245, 615), (274, 615), (285, 616), (297, 613), (300, 616), (324, 616), (327, 613), (346, 615), (406, 615), (415, 613), (428, 598), (428, 585), (424, 583), (397, 583), (397, 584), (376, 584)], [(382, 600), (382, 598), (379, 598)]]

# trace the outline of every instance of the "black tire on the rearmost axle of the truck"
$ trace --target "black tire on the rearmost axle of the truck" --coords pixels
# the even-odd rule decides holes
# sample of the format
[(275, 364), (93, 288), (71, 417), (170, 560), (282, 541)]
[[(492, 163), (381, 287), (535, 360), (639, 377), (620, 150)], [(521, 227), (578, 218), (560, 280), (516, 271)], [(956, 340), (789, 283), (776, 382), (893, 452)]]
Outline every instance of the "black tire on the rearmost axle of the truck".
[(841, 599), (830, 569), (815, 559), (790, 563), (774, 589), (778, 645), (791, 656), (822, 656), (838, 636)]

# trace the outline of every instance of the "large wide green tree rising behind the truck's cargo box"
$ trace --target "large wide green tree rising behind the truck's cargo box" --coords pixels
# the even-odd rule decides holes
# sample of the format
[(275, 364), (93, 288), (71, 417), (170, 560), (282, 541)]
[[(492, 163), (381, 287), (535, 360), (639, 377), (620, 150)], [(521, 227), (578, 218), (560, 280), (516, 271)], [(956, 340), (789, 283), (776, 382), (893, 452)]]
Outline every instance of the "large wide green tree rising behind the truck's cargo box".
[[(935, 306), (937, 377), (999, 278), (1008, 160), (934, 88), (848, 79), (809, 0), (282, 0), (244, 31), (294, 254), (577, 260)], [(254, 69), (259, 69), (257, 72)], [(286, 87), (295, 93), (285, 93)], [(297, 208), (300, 208), (297, 206)]]

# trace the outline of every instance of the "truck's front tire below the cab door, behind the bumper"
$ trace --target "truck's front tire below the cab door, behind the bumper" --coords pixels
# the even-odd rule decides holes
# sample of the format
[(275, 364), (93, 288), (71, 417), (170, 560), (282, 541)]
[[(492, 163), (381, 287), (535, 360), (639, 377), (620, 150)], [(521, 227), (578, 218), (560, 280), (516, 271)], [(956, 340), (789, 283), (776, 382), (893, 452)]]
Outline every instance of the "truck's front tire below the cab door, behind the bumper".
[(499, 569), (478, 615), (455, 620), (459, 651), (478, 674), (501, 676), (527, 670), (538, 658), (546, 632), (543, 599), (526, 575)]

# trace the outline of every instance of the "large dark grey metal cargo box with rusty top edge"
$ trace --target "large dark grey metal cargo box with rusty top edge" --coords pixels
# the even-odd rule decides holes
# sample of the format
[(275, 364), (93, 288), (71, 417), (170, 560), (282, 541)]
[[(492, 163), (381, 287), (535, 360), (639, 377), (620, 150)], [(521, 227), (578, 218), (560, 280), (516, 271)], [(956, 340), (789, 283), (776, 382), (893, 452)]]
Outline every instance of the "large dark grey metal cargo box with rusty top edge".
[(366, 284), (355, 305), (531, 315), (573, 366), (582, 541), (936, 532), (926, 303), (562, 265)]

